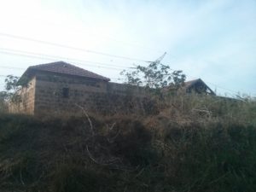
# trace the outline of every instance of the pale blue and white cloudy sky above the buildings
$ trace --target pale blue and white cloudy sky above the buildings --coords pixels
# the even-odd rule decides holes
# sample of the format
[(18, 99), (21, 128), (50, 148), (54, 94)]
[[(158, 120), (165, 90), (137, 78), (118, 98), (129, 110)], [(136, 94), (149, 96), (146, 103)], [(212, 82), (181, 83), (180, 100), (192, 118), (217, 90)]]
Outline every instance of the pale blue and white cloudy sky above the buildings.
[(187, 80), (256, 96), (256, 0), (0, 0), (0, 24), (1, 89), (5, 75), (51, 61), (117, 82), (167, 52)]

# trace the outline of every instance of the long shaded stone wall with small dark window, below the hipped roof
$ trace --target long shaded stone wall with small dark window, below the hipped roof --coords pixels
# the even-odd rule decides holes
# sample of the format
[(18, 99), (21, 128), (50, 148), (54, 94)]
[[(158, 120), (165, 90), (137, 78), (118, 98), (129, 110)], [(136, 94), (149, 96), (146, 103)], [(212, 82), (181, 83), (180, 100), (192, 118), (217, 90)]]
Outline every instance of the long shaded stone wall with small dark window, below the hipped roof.
[(154, 111), (146, 91), (137, 86), (49, 73), (37, 74), (35, 85), (35, 115)]

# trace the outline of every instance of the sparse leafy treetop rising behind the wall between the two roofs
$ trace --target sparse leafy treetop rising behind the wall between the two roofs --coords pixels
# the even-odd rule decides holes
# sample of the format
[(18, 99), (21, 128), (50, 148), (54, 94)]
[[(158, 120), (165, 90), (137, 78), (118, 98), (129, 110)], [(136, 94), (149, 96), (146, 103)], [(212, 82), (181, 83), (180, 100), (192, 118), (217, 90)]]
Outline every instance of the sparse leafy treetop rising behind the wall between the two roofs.
[(173, 71), (159, 60), (150, 62), (147, 67), (139, 65), (133, 71), (124, 70), (120, 74), (125, 76), (126, 84), (145, 86), (153, 90), (160, 90), (166, 86), (176, 90), (186, 79), (183, 71)]

